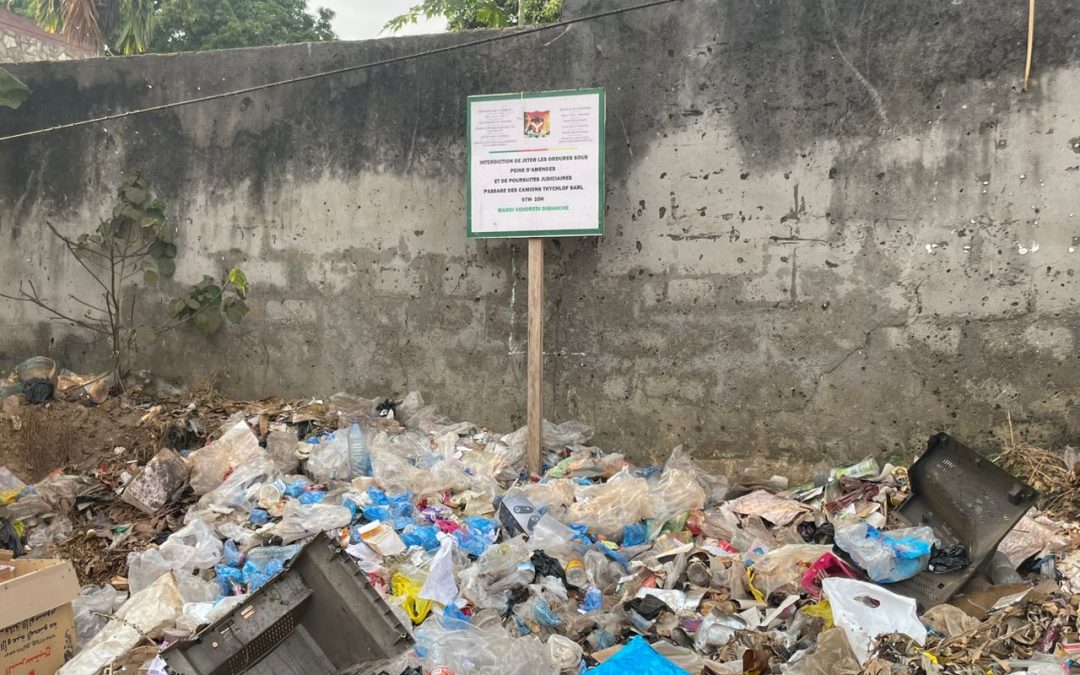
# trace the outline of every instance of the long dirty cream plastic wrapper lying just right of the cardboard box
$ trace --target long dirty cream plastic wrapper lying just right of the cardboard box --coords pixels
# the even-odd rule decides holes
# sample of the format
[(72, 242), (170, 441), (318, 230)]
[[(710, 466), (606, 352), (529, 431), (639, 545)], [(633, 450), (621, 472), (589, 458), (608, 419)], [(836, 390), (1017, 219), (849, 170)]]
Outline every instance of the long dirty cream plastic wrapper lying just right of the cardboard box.
[(150, 586), (132, 595), (97, 635), (57, 675), (96, 675), (153, 633), (176, 621), (184, 600), (173, 575), (162, 575)]

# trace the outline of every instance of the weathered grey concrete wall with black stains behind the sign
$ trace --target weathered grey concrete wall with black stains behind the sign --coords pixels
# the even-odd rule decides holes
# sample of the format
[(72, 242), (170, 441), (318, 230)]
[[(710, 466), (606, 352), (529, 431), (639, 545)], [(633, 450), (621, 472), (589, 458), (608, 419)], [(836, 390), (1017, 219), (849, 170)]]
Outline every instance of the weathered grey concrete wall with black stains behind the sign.
[[(593, 2), (578, 8), (609, 8)], [(43, 233), (141, 171), (177, 279), (241, 264), (245, 323), (141, 363), (240, 395), (418, 388), (509, 429), (524, 408), (525, 251), (464, 238), (464, 99), (605, 86), (602, 240), (548, 247), (553, 418), (638, 456), (909, 456), (1080, 430), (1080, 14), (1026, 4), (687, 0), (363, 72), (0, 144), (0, 286), (83, 283)], [(485, 33), (15, 69), (0, 133)], [(0, 363), (84, 337), (0, 306)]]

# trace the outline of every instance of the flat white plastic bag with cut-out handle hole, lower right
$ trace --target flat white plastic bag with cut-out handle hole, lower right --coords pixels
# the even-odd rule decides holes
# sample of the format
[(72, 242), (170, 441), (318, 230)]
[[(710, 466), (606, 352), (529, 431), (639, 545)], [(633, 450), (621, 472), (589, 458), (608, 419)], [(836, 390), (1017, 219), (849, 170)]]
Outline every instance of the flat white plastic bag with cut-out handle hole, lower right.
[(854, 579), (825, 579), (822, 590), (833, 609), (833, 622), (843, 629), (860, 665), (866, 664), (879, 635), (903, 633), (920, 646), (927, 642), (927, 629), (909, 597)]

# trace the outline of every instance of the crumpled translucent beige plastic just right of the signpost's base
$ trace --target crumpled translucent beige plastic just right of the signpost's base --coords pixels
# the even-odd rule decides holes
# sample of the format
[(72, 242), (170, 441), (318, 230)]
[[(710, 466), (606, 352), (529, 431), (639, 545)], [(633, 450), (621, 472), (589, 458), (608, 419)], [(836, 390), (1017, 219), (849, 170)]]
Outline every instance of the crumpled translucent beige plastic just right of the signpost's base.
[(625, 469), (607, 483), (579, 486), (577, 498), (568, 512), (569, 522), (611, 540), (619, 539), (626, 523), (646, 521), (656, 513), (649, 484)]

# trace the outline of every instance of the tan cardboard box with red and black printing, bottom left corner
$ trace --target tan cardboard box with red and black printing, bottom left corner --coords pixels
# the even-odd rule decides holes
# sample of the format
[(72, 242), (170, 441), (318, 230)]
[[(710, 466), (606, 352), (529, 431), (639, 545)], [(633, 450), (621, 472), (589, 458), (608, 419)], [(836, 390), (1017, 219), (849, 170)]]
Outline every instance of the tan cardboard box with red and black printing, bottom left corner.
[(16, 558), (14, 577), (0, 583), (0, 673), (52, 675), (75, 656), (71, 599), (79, 595), (66, 561)]

